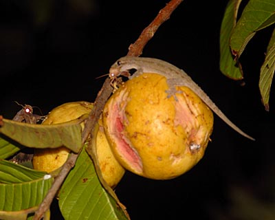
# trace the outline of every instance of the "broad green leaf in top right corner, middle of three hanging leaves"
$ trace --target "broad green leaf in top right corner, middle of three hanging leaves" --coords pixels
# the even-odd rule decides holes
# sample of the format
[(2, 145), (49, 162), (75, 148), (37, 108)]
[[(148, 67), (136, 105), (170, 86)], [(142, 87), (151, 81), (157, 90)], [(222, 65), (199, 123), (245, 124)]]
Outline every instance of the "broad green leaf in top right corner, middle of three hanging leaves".
[(231, 36), (231, 50), (239, 58), (257, 31), (275, 22), (274, 0), (250, 0)]

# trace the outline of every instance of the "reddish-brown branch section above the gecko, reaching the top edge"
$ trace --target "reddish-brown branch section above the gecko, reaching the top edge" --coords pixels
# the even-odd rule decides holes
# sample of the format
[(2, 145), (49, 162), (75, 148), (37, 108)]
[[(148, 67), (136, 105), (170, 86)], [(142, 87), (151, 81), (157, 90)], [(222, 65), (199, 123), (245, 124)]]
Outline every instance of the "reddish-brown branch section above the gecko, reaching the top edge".
[(142, 31), (142, 34), (140, 34), (137, 41), (130, 45), (127, 55), (140, 56), (146, 43), (153, 38), (159, 26), (170, 18), (170, 14), (173, 13), (182, 1), (184, 0), (171, 0), (164, 8), (162, 8), (162, 10), (159, 11), (159, 14), (157, 14), (157, 17), (155, 17), (147, 28)]

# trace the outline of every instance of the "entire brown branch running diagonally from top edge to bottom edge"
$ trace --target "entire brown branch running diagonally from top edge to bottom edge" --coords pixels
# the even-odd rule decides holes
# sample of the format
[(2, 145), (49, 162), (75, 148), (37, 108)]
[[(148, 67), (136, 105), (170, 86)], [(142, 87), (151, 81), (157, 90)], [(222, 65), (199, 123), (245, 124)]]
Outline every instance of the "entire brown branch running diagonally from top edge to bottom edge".
[[(157, 17), (145, 28), (140, 34), (140, 37), (135, 41), (135, 43), (131, 44), (129, 47), (129, 52), (127, 55), (129, 56), (139, 56), (142, 54), (142, 50), (146, 43), (152, 39), (153, 35), (157, 31), (160, 25), (167, 21), (170, 18), (170, 14), (173, 13), (175, 8), (182, 2), (183, 0), (171, 0), (162, 10), (159, 11)], [(98, 96), (96, 97), (96, 101), (94, 102), (94, 108), (92, 109), (91, 113), (89, 114), (89, 118), (85, 124), (85, 128), (82, 133), (82, 140), (83, 144), (87, 140), (87, 137), (94, 129), (94, 125), (98, 121), (100, 114), (102, 113), (102, 109), (104, 104), (107, 102), (107, 99), (111, 95), (113, 88), (111, 87), (110, 79), (107, 78), (104, 82), (104, 85), (100, 89)], [(0, 120), (1, 122), (1, 120)], [(74, 167), (76, 164), (76, 159), (78, 158), (78, 154), (73, 153), (63, 165), (61, 173), (54, 179), (54, 184), (50, 188), (49, 192), (39, 209), (34, 214), (34, 220), (39, 220), (43, 217), (43, 214), (46, 210), (49, 210), (52, 200), (54, 199), (56, 193), (58, 192), (59, 188), (61, 187), (64, 179), (67, 177), (69, 171)]]

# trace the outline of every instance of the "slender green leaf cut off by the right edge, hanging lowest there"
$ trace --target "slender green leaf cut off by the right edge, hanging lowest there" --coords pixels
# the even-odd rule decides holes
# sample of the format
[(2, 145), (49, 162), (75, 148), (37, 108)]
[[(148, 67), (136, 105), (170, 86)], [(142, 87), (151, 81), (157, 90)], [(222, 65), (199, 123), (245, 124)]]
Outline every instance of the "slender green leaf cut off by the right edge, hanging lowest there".
[(261, 66), (259, 88), (265, 110), (269, 111), (270, 88), (275, 71), (275, 29), (267, 47), (265, 62)]

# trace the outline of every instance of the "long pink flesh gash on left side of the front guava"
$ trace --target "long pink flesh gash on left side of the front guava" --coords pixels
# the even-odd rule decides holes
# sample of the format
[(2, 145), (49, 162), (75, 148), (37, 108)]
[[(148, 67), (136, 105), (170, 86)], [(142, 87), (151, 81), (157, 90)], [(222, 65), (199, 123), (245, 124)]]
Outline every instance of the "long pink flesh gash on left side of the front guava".
[[(115, 146), (117, 147), (118, 154), (122, 159), (131, 166), (137, 173), (142, 173), (142, 161), (137, 151), (131, 146), (131, 142), (128, 140), (126, 135), (124, 134), (124, 125), (123, 120), (126, 120), (126, 116), (124, 115), (124, 109), (120, 109), (119, 104), (112, 105), (111, 117), (111, 134), (112, 139), (115, 142)], [(115, 119), (115, 120), (114, 120)]]

